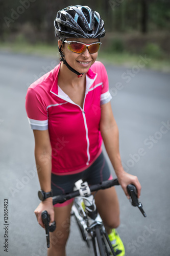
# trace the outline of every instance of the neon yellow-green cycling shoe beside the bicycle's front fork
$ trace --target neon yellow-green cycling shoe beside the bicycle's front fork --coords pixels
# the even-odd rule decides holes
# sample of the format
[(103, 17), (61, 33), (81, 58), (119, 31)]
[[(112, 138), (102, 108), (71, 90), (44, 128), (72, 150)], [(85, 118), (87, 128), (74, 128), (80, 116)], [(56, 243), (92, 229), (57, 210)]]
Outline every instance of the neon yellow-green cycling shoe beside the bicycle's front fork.
[(112, 232), (108, 234), (109, 240), (111, 242), (111, 245), (113, 247), (114, 252), (118, 256), (124, 256), (125, 255), (125, 247), (120, 239), (117, 231), (115, 229), (112, 229)]

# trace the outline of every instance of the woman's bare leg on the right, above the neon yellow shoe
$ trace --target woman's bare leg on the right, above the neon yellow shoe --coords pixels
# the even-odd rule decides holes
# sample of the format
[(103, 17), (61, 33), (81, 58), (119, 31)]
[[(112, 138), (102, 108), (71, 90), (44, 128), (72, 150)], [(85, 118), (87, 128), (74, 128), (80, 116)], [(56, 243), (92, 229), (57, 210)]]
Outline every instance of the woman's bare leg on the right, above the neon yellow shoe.
[(95, 203), (105, 226), (109, 228), (118, 227), (119, 203), (115, 188), (99, 190), (95, 194)]

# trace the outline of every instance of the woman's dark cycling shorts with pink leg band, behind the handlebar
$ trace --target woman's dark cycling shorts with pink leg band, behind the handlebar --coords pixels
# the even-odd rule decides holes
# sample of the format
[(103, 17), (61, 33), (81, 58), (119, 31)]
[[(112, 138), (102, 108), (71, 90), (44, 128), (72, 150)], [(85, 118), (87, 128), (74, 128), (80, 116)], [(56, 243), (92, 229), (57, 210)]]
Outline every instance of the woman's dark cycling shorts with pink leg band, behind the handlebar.
[[(108, 163), (103, 152), (87, 169), (78, 174), (71, 175), (56, 175), (52, 174), (52, 190), (53, 195), (58, 196), (65, 193), (70, 193), (74, 189), (75, 182), (82, 179), (87, 181), (89, 186), (98, 184), (102, 181), (111, 179)], [(56, 204), (55, 207), (68, 205), (74, 199), (70, 199), (62, 204)]]

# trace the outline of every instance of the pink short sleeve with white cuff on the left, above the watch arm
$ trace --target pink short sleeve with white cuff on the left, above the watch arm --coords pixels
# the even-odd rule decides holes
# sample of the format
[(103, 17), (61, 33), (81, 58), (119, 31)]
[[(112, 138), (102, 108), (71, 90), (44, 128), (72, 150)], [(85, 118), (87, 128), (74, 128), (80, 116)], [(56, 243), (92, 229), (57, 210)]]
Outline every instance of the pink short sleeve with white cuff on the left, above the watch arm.
[(39, 131), (48, 129), (48, 116), (44, 100), (33, 88), (29, 88), (26, 95), (26, 111), (31, 129)]

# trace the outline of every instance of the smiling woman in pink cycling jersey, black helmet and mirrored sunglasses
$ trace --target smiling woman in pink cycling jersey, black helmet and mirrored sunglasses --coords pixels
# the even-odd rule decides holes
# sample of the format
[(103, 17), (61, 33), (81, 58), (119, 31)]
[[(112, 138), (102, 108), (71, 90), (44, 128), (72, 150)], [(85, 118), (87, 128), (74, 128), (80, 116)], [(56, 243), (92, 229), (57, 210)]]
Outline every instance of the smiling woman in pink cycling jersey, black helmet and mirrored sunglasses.
[[(96, 61), (104, 37), (104, 21), (87, 6), (70, 6), (57, 13), (55, 34), (61, 61), (28, 89), (26, 110), (35, 137), (35, 160), (42, 202), (35, 209), (47, 210), (57, 228), (51, 233), (48, 256), (65, 256), (72, 200), (53, 207), (52, 195), (69, 193), (83, 179), (90, 185), (111, 178), (102, 153), (102, 139), (115, 174), (127, 194), (133, 183), (140, 196), (136, 176), (122, 166), (118, 128), (111, 109), (108, 76)], [(115, 228), (119, 225), (119, 205), (114, 187), (100, 190), (95, 203), (105, 224), (116, 255), (125, 255)]]

